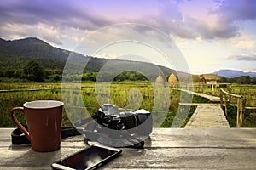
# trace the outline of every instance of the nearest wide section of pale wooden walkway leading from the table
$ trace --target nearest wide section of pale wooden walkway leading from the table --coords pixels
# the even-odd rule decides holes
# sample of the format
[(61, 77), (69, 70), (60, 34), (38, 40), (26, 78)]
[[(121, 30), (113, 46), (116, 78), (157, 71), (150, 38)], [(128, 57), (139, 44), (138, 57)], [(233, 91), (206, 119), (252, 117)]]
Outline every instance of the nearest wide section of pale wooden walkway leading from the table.
[(198, 104), (194, 114), (185, 126), (185, 128), (195, 127), (229, 128), (230, 125), (219, 104)]

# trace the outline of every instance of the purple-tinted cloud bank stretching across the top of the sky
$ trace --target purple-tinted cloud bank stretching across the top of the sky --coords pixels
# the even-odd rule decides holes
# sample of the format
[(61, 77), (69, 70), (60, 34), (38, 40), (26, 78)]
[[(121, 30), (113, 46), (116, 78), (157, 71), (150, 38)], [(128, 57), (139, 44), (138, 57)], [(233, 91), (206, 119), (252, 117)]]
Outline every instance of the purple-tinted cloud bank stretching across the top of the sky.
[[(7, 34), (22, 36), (32, 32), (33, 35), (31, 36), (44, 37), (50, 42), (61, 43), (61, 31), (66, 28), (95, 31), (103, 26), (120, 22), (135, 22), (154, 26), (166, 34), (177, 37), (215, 39), (238, 36), (240, 30), (236, 26), (236, 20), (256, 19), (256, 10), (254, 10), (256, 1), (218, 0), (215, 2), (218, 7), (210, 9), (209, 15), (216, 15), (218, 24), (209, 26), (205, 20), (183, 16), (183, 11), (180, 11), (179, 5), (188, 3), (186, 0), (160, 0), (139, 3), (125, 0), (122, 3), (114, 1), (109, 1), (109, 3), (96, 1), (92, 3), (90, 1), (70, 0), (0, 1), (0, 36)], [(150, 9), (144, 8), (143, 3), (150, 3)], [(193, 4), (193, 1), (190, 3)], [(113, 13), (104, 14), (102, 12), (104, 8), (110, 8), (108, 11), (110, 13), (113, 11)], [(200, 5), (198, 10), (201, 10)], [(44, 26), (44, 28), (40, 27), (38, 29), (38, 25)], [(15, 26), (24, 28), (17, 28), (18, 31), (15, 31), (12, 29)], [(34, 31), (32, 31), (33, 27)], [(59, 33), (59, 35), (53, 38), (52, 36), (55, 34), (47, 31), (47, 27), (56, 31), (55, 34)], [(22, 33), (22, 31), (25, 32)]]

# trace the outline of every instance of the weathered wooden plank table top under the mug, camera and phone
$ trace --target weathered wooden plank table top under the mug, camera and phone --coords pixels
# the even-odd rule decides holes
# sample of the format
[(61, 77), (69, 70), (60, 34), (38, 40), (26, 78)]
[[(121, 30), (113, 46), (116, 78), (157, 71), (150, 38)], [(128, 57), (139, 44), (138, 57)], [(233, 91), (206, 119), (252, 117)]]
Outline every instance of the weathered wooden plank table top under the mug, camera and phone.
[[(39, 153), (11, 144), (12, 130), (0, 128), (0, 169), (50, 169), (52, 162), (88, 146), (76, 136), (62, 140), (61, 150)], [(154, 128), (143, 150), (122, 150), (102, 168), (256, 169), (256, 128)]]

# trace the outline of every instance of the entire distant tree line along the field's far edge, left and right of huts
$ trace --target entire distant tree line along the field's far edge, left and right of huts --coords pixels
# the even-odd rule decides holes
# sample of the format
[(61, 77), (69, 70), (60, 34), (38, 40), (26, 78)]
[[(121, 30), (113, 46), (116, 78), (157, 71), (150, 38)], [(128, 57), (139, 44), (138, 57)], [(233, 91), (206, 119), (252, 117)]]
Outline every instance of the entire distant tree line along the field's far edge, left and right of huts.
[[(55, 63), (51, 64), (55, 65)], [(23, 68), (4, 68), (0, 70), (0, 82), (61, 82), (62, 80), (61, 67), (45, 68), (44, 65), (38, 64), (34, 60), (30, 60), (23, 66)], [(96, 79), (101, 82), (123, 82), (130, 81), (147, 81), (154, 80), (155, 75), (143, 75), (136, 71), (124, 71), (119, 75), (112, 72), (102, 74), (104, 76), (97, 77), (97, 71), (85, 70), (83, 75), (66, 75), (67, 81), (82, 80), (95, 82)], [(193, 75), (193, 81), (198, 82), (199, 77)], [(219, 82), (239, 83), (239, 84), (256, 84), (256, 77), (241, 76), (241, 77), (220, 77)]]

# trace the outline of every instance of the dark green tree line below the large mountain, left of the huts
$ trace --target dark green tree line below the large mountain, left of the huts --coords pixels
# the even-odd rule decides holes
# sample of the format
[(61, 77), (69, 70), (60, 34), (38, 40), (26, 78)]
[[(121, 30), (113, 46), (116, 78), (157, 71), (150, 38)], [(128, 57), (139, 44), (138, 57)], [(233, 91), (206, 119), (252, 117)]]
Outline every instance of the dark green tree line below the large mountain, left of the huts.
[[(96, 71), (87, 70), (84, 71), (83, 75), (66, 75), (65, 80), (70, 82), (78, 80), (95, 82), (97, 78), (97, 80), (101, 82), (148, 80), (147, 77), (136, 71), (124, 71), (117, 76), (112, 72), (106, 72), (102, 75), (104, 76), (97, 77)], [(5, 79), (3, 79), (3, 77)], [(21, 69), (3, 69), (0, 71), (0, 82), (61, 82), (61, 80), (61, 69), (45, 69), (34, 60), (27, 62), (27, 64)]]

